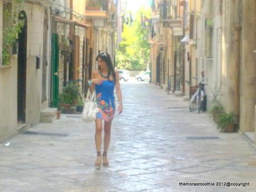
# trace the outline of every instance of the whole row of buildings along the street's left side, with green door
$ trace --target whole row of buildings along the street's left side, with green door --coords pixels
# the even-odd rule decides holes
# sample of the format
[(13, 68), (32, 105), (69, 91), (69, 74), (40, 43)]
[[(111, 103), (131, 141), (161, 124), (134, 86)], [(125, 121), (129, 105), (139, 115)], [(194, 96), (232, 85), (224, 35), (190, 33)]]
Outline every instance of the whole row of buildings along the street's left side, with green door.
[(115, 61), (116, 1), (106, 1), (105, 11), (90, 12), (96, 1), (24, 0), (16, 11), (24, 26), (3, 63), (3, 33), (13, 19), (3, 13), (14, 12), (15, 2), (0, 0), (0, 142), (56, 119), (59, 94), (67, 83), (79, 82), (81, 95), (86, 93), (98, 50)]

